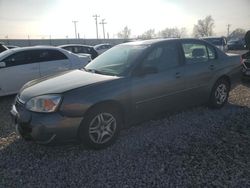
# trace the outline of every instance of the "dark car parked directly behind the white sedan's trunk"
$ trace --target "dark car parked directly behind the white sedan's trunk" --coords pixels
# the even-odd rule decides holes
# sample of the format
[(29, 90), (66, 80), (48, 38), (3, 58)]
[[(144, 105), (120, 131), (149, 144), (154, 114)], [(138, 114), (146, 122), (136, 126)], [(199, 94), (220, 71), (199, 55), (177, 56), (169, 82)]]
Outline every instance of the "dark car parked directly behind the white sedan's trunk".
[(92, 59), (98, 56), (98, 52), (93, 48), (93, 46), (81, 45), (81, 44), (66, 44), (58, 46), (75, 54), (90, 54)]

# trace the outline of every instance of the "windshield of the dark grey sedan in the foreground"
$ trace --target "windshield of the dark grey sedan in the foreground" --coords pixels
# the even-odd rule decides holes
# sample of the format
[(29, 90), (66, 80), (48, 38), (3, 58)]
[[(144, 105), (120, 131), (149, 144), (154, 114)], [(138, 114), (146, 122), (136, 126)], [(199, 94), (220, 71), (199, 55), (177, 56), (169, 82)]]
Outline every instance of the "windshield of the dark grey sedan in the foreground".
[(146, 45), (119, 45), (98, 56), (86, 67), (86, 71), (98, 74), (122, 75), (147, 48)]

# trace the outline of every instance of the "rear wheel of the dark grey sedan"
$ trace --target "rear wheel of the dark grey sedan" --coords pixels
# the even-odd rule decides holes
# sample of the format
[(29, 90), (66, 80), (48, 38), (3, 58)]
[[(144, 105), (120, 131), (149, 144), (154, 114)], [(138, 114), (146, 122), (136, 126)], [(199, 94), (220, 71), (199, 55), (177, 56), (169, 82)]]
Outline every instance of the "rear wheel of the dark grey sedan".
[(209, 106), (217, 109), (223, 107), (228, 101), (229, 91), (229, 82), (225, 79), (218, 80), (211, 91)]

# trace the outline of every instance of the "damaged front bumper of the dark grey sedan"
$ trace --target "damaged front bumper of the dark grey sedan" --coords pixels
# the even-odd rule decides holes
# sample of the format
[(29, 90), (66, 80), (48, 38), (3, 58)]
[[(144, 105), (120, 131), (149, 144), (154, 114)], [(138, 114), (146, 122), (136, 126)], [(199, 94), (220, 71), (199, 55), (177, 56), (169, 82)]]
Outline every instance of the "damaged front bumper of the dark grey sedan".
[(18, 100), (12, 105), (10, 114), (17, 132), (25, 140), (33, 140), (41, 144), (76, 140), (78, 128), (83, 119), (62, 116), (60, 112), (31, 112), (26, 110), (24, 104)]

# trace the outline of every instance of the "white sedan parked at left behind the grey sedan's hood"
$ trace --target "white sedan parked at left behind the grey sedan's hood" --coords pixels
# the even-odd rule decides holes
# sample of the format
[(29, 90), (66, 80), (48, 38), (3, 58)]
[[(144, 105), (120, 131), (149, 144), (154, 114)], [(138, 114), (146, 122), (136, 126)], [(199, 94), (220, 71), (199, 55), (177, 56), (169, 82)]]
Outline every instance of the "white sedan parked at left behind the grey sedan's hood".
[(83, 68), (91, 59), (57, 47), (24, 47), (0, 54), (0, 96), (17, 93), (28, 81), (71, 69)]

